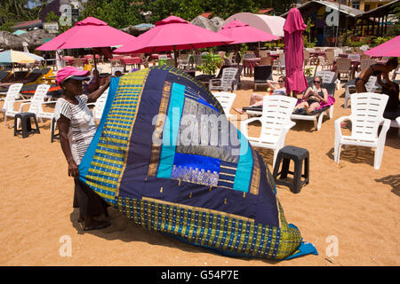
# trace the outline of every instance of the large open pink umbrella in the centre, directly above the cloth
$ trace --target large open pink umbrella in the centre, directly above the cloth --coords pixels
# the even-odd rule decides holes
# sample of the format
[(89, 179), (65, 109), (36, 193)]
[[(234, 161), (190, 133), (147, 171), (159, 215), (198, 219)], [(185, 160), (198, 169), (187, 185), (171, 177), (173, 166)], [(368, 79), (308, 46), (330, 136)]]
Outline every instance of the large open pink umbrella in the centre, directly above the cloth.
[[(125, 43), (116, 49), (115, 53), (132, 52), (157, 52), (198, 49), (232, 43), (226, 37), (214, 33), (208, 29), (190, 24), (176, 16), (170, 16), (164, 20), (156, 22), (154, 28), (141, 34), (136, 40)], [(177, 56), (175, 54), (175, 66), (177, 66)]]

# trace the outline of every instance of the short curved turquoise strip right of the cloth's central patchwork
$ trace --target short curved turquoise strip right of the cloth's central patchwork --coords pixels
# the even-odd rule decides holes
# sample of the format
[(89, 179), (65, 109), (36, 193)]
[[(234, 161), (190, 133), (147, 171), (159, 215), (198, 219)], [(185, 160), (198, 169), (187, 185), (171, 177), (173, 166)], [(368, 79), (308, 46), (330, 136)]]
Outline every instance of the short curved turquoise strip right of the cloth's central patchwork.
[(240, 141), (240, 156), (236, 171), (240, 175), (236, 175), (233, 188), (247, 193), (252, 181), (252, 149), (247, 139), (239, 130), (237, 130), (237, 135)]

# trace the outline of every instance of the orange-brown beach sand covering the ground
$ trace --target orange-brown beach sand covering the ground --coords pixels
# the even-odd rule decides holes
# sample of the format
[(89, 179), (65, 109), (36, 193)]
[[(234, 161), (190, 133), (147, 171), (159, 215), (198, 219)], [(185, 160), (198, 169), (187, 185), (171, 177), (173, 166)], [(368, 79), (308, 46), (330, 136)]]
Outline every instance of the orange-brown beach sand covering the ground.
[[(247, 106), (252, 78), (244, 77), (234, 107)], [(265, 93), (256, 91), (258, 93)], [(50, 122), (39, 122), (40, 134), (14, 137), (11, 119), (0, 119), (0, 264), (2, 265), (398, 265), (400, 202), (400, 138), (388, 130), (380, 170), (373, 168), (373, 151), (363, 147), (342, 150), (333, 162), (335, 119), (344, 109), (343, 89), (336, 91), (333, 119), (321, 130), (313, 122), (296, 121), (286, 145), (308, 149), (310, 181), (300, 193), (277, 186), (277, 198), (289, 223), (303, 240), (314, 244), (318, 256), (269, 261), (220, 256), (150, 232), (115, 209), (108, 209), (112, 225), (85, 232), (72, 208), (73, 179), (60, 141), (50, 143)], [(236, 114), (232, 109), (231, 114)], [(257, 132), (256, 124), (249, 133)], [(259, 149), (272, 171), (273, 152)], [(65, 254), (70, 241), (71, 255)], [(332, 255), (332, 240), (337, 255)]]

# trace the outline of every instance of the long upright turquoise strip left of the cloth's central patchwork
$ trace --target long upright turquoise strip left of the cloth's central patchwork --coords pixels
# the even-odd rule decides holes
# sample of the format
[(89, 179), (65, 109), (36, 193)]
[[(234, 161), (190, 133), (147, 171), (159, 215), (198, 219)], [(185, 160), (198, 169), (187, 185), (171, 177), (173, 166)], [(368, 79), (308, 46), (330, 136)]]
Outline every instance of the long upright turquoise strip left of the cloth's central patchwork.
[(161, 147), (160, 163), (158, 165), (157, 177), (171, 177), (172, 164), (175, 157), (176, 141), (180, 130), (180, 116), (185, 101), (185, 86), (172, 83), (170, 106), (167, 117), (169, 122), (164, 123), (163, 145)]

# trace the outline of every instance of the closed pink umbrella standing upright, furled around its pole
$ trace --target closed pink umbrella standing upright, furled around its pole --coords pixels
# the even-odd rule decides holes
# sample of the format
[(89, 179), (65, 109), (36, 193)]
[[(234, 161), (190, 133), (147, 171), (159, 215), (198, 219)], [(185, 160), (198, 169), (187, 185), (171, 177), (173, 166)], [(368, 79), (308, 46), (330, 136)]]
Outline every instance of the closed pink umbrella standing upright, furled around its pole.
[(307, 25), (297, 8), (292, 8), (284, 22), (284, 64), (286, 70), (286, 91), (300, 93), (307, 89), (308, 83), (303, 70), (302, 33)]

